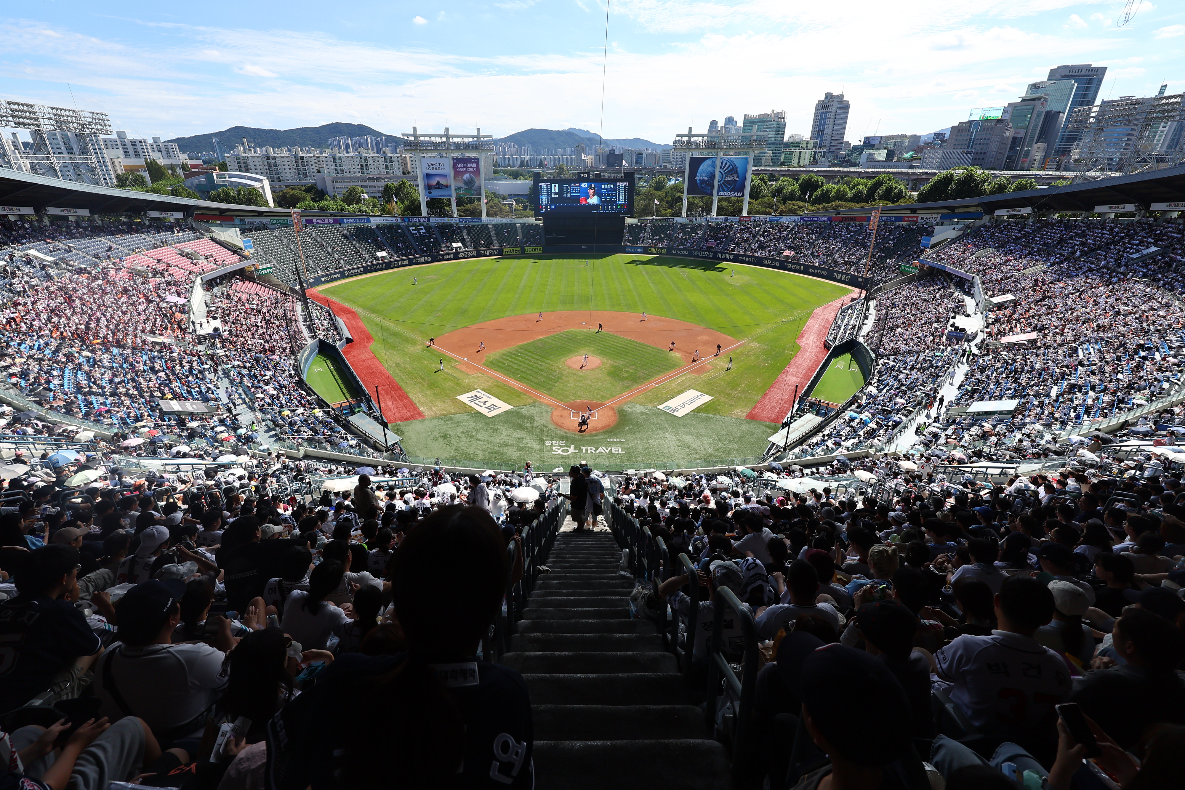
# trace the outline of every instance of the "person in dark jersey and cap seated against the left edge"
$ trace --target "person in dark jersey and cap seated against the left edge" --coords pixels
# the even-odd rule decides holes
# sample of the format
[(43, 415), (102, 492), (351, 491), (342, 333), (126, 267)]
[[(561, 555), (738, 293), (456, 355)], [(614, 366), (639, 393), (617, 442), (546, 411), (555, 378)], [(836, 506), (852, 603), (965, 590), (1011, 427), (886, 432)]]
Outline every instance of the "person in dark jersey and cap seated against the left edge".
[(17, 597), (0, 603), (0, 713), (51, 691), (53, 700), (77, 696), (103, 644), (76, 597), (78, 550), (50, 545), (28, 553), (15, 576)]

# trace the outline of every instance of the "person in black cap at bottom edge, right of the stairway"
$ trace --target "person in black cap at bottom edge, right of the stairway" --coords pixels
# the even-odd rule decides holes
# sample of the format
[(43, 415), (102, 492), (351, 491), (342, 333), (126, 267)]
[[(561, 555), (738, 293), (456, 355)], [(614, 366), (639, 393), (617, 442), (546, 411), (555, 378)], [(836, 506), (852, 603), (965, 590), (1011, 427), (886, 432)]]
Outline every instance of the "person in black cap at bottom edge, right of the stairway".
[[(909, 699), (883, 661), (841, 644), (812, 651), (799, 673), (802, 722), (830, 764), (801, 777), (794, 790), (889, 790), (928, 786), (911, 741)], [(898, 726), (870, 738), (852, 711), (895, 711)]]

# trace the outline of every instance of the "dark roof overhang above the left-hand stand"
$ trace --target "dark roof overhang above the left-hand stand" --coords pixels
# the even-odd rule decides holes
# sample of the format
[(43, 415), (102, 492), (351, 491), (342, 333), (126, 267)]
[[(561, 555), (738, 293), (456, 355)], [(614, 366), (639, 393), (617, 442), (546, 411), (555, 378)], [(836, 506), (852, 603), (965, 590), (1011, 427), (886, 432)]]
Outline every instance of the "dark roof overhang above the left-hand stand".
[[(38, 212), (45, 208), (87, 208), (92, 214), (139, 214), (145, 211), (224, 214), (237, 217), (289, 217), (287, 208), (237, 206), (209, 200), (190, 200), (152, 192), (115, 190), (75, 181), (63, 181), (44, 175), (0, 169), (0, 205), (32, 206)], [(302, 211), (309, 217), (334, 217), (332, 211)]]

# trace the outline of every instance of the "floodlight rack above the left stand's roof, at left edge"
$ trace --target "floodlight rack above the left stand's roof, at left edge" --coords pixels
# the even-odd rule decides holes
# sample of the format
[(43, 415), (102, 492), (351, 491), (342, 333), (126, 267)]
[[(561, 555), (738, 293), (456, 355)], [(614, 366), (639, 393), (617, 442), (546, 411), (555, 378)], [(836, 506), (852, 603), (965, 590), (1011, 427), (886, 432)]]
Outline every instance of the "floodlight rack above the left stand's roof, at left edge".
[(115, 186), (115, 171), (100, 135), (111, 134), (107, 113), (0, 101), (0, 127), (28, 131), (32, 144), (12, 133), (0, 137), (0, 167), (64, 181)]

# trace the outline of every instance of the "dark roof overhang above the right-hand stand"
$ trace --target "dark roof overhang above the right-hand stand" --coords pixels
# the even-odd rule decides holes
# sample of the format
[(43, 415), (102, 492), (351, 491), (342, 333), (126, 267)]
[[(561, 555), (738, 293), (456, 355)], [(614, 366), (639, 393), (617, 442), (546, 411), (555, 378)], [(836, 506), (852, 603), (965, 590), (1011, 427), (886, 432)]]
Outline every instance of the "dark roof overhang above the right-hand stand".
[[(1113, 204), (1135, 204), (1147, 208), (1154, 203), (1185, 201), (1185, 165), (1168, 167), (1148, 173), (1119, 175), (1098, 181), (1083, 181), (1066, 186), (1046, 187), (1044, 190), (1025, 190), (1024, 192), (1006, 192), (1004, 194), (982, 198), (963, 198), (961, 200), (941, 200), (936, 203), (914, 203), (897, 206), (885, 206), (885, 214), (920, 213), (963, 213), (982, 211), (992, 214), (1000, 208), (1033, 208), (1035, 211), (1087, 211), (1095, 206)], [(867, 214), (869, 208), (844, 208), (837, 214)]]

